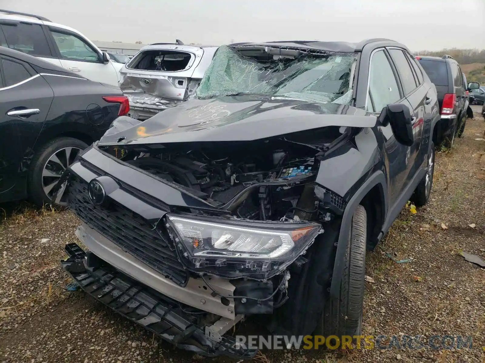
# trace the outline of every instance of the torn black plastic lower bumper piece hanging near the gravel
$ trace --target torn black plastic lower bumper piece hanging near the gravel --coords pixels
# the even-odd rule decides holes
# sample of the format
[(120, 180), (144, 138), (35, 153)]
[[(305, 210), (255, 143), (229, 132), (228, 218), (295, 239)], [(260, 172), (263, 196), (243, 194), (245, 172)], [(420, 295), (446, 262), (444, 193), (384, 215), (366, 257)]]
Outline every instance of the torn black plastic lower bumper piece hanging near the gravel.
[[(252, 359), (256, 355), (256, 350), (239, 346), (230, 335), (221, 336), (219, 342), (210, 339), (204, 327), (196, 325), (194, 317), (182, 311), (180, 303), (111, 265), (89, 263), (88, 255), (76, 243), (67, 244), (65, 250), (69, 258), (61, 265), (85, 292), (176, 347), (208, 357)], [(97, 259), (95, 255), (89, 257)]]

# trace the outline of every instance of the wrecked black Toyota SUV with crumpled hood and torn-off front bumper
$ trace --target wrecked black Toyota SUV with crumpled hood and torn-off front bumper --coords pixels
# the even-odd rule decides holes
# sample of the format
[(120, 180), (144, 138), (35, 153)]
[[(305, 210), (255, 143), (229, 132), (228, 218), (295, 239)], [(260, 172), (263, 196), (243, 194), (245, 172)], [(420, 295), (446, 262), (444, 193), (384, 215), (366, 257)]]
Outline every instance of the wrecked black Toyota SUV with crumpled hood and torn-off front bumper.
[(221, 46), (197, 99), (118, 118), (65, 173), (89, 252), (69, 244), (62, 264), (200, 354), (254, 355), (226, 334), (250, 315), (276, 334), (358, 335), (366, 250), (428, 201), (439, 119), (394, 41)]

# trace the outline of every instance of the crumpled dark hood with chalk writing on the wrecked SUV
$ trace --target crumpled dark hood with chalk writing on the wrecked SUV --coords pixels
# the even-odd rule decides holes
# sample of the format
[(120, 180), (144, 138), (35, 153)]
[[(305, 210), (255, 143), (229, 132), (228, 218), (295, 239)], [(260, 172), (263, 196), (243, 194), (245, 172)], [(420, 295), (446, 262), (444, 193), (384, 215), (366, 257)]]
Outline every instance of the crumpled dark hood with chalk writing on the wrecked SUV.
[(374, 115), (348, 105), (224, 96), (188, 101), (136, 125), (112, 127), (98, 145), (251, 141), (326, 126), (372, 127), (376, 121)]

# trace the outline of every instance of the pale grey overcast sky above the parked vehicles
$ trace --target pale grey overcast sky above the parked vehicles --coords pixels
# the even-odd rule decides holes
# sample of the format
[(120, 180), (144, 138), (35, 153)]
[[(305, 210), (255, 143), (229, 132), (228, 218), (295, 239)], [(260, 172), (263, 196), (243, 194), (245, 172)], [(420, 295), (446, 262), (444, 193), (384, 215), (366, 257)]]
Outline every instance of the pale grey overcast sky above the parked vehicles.
[(411, 50), (485, 48), (485, 0), (0, 0), (93, 41), (234, 42), (385, 37)]

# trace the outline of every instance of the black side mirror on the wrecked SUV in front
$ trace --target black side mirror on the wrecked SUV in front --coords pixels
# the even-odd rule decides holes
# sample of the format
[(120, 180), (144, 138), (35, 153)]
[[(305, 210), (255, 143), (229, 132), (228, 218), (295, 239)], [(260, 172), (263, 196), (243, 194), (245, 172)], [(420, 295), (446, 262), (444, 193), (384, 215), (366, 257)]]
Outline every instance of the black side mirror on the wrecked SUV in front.
[(403, 145), (412, 146), (414, 143), (412, 117), (409, 107), (402, 104), (391, 104), (382, 109), (379, 121), (383, 126), (391, 125), (396, 140)]

